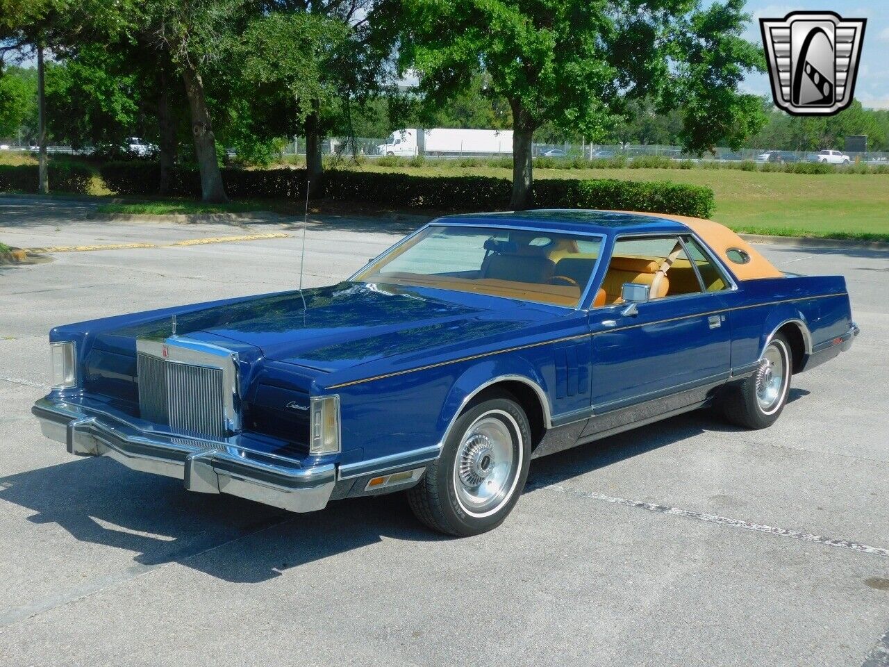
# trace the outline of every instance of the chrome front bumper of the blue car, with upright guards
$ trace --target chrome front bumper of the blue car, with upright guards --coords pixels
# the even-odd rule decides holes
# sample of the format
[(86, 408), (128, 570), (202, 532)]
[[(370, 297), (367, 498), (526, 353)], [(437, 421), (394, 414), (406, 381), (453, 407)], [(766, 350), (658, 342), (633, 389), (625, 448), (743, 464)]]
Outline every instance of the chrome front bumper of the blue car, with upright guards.
[(323, 510), (336, 483), (332, 463), (302, 468), (276, 454), (225, 442), (147, 432), (109, 414), (41, 398), (31, 408), (47, 438), (70, 454), (108, 456), (132, 470), (182, 479), (189, 491), (230, 494), (282, 510)]

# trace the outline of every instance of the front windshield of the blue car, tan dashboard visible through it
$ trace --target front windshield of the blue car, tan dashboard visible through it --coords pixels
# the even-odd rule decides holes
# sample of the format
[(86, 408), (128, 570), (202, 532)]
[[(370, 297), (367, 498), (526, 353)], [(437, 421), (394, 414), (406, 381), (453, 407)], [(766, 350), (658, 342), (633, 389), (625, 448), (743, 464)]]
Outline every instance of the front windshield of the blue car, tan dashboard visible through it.
[(356, 280), (576, 308), (601, 245), (600, 237), (433, 225), (373, 262)]

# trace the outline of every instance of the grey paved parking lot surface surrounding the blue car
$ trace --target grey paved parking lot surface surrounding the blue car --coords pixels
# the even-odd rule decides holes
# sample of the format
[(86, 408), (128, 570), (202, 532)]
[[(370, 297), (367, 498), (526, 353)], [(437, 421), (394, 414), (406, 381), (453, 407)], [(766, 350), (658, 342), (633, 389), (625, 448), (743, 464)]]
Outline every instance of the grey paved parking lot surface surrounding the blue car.
[[(0, 663), (889, 665), (889, 251), (760, 246), (844, 274), (862, 330), (773, 428), (690, 414), (537, 460), (501, 528), (453, 540), (398, 496), (292, 515), (44, 439), (52, 325), (298, 281), (294, 221), (90, 213), (0, 198), (7, 244), (153, 245), (0, 266)], [(305, 285), (412, 224), (313, 222)]]

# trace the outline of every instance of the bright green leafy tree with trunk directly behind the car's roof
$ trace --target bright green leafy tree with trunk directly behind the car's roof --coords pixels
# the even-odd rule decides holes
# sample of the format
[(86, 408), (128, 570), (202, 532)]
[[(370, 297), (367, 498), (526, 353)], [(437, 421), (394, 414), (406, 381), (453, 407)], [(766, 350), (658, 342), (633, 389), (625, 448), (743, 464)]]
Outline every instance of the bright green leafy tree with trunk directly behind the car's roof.
[(595, 140), (629, 100), (649, 96), (661, 112), (685, 107), (688, 149), (707, 149), (717, 138), (736, 143), (756, 129), (758, 99), (737, 85), (764, 63), (741, 39), (748, 19), (742, 6), (742, 0), (707, 9), (697, 0), (403, 0), (399, 65), (419, 73), (431, 104), (465, 88), (479, 65), (490, 76), (512, 112), (511, 205), (525, 208), (533, 133), (544, 123)]

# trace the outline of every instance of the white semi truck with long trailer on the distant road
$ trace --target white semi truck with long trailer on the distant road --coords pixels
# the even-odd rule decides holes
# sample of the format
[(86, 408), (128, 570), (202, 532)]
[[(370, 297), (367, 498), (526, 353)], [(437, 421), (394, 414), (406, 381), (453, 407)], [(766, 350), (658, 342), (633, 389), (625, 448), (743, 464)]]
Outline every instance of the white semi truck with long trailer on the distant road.
[(379, 155), (414, 157), (512, 155), (512, 130), (396, 130), (377, 146)]

